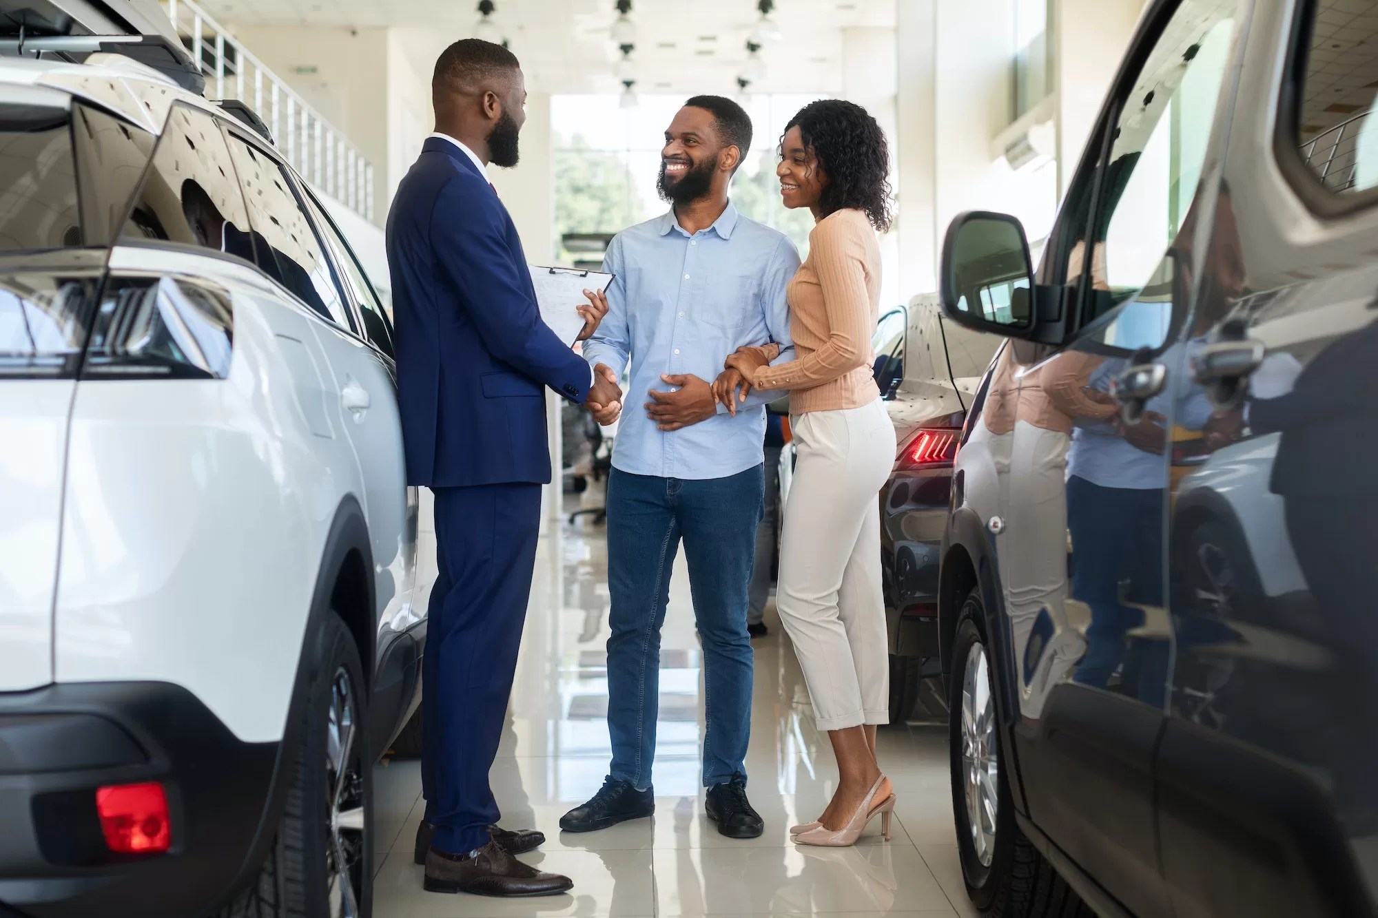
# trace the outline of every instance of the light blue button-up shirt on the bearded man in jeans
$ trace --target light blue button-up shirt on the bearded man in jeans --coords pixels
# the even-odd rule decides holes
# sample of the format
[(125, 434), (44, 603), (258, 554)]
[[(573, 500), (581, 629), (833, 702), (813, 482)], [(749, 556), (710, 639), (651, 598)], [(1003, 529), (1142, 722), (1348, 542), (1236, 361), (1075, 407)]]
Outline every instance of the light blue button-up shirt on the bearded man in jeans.
[(674, 211), (623, 230), (608, 247), (604, 270), (608, 314), (584, 343), (590, 365), (619, 376), (631, 363), (613, 467), (660, 478), (725, 478), (762, 462), (765, 404), (779, 393), (752, 393), (737, 416), (718, 414), (664, 431), (642, 407), (660, 376), (693, 374), (711, 383), (722, 361), (741, 345), (780, 345), (779, 361), (794, 358), (784, 288), (799, 269), (799, 252), (783, 233), (737, 214), (730, 203), (706, 230), (689, 234)]

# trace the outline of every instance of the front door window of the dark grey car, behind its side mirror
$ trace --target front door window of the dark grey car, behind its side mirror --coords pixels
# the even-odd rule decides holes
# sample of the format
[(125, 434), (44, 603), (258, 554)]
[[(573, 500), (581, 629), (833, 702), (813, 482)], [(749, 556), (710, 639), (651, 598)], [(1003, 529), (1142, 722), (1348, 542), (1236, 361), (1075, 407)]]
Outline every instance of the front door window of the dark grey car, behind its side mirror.
[[(1109, 295), (1086, 298), (1083, 324), (1137, 298), (1162, 270), (1206, 161), (1235, 7), (1235, 0), (1185, 0), (1123, 101), (1090, 222), (1091, 287)], [(1090, 194), (1076, 197), (1090, 204)], [(1065, 258), (1075, 283), (1087, 259), (1084, 236)]]

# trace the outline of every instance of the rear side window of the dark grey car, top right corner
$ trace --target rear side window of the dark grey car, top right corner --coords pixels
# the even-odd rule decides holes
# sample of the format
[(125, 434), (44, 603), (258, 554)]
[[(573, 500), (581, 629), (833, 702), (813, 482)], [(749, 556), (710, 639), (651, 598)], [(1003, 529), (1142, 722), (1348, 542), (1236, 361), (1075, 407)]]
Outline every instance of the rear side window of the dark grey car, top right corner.
[(1305, 66), (1297, 136), (1306, 165), (1324, 187), (1352, 194), (1378, 186), (1378, 106), (1374, 52), (1378, 18), (1370, 4), (1305, 4)]

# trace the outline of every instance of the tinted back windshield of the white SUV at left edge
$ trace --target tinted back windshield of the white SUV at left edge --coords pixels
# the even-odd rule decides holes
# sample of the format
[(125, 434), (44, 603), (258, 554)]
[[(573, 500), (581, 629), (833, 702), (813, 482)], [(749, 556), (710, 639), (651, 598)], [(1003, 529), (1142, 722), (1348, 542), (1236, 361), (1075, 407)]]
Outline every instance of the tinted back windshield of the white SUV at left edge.
[(0, 249), (83, 245), (65, 109), (0, 103)]

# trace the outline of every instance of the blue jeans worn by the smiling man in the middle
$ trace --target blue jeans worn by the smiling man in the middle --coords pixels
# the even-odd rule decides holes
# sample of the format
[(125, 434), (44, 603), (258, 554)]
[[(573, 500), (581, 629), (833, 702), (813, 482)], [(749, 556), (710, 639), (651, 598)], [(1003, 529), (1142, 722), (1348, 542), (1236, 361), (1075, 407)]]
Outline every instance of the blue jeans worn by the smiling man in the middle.
[(608, 478), (608, 733), (613, 779), (650, 787), (660, 700), (660, 629), (679, 542), (703, 641), (703, 784), (745, 775), (751, 737), (747, 584), (765, 484), (762, 469), (685, 481), (613, 469)]

